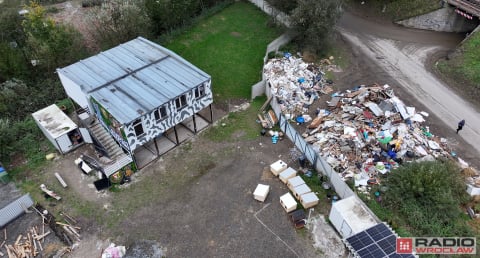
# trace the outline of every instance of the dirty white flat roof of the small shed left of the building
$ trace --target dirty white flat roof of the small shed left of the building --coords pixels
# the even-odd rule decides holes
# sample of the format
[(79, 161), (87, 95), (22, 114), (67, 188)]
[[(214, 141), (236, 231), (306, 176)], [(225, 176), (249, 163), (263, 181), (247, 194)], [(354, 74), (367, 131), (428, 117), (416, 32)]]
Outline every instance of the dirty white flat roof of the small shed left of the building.
[(77, 128), (77, 125), (55, 104), (33, 113), (32, 116), (53, 139)]

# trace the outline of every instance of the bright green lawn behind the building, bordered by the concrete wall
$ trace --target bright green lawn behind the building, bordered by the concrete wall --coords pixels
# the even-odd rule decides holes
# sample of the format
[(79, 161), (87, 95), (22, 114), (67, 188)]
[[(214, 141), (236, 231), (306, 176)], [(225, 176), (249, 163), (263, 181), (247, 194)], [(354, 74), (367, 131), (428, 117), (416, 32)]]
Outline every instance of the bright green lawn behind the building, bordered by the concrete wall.
[(165, 46), (212, 76), (214, 101), (249, 99), (261, 79), (266, 47), (281, 34), (269, 24), (254, 5), (236, 2)]

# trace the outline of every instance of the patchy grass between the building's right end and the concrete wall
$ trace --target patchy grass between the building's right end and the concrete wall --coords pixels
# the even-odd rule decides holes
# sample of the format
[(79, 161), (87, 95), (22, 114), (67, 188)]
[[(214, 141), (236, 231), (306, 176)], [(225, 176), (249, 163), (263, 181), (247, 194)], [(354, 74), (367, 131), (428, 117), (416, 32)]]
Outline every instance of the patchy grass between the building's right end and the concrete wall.
[(207, 129), (204, 133), (205, 137), (214, 142), (255, 139), (260, 135), (262, 129), (255, 118), (265, 101), (265, 96), (258, 97), (250, 103), (248, 109), (229, 113), (215, 126)]

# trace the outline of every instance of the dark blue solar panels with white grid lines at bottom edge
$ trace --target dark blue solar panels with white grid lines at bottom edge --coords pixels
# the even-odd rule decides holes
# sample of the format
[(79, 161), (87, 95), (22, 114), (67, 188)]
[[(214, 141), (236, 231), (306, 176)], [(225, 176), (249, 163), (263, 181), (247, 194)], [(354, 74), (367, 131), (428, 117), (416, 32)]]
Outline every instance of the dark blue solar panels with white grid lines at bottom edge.
[(384, 223), (377, 224), (346, 239), (348, 247), (360, 258), (415, 258), (413, 254), (397, 254), (397, 236)]

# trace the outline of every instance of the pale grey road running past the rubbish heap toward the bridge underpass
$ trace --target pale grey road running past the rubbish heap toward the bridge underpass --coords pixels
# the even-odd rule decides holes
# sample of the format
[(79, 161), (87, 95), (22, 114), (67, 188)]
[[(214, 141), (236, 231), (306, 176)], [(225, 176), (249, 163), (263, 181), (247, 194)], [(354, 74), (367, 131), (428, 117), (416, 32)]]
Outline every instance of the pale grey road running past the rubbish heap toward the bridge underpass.
[(451, 129), (447, 132), (454, 132), (457, 122), (465, 119), (466, 126), (458, 137), (469, 143), (478, 156), (480, 145), (473, 143), (480, 141), (479, 112), (425, 68), (429, 54), (454, 48), (462, 40), (459, 35), (407, 29), (349, 13), (340, 20), (338, 30), (416, 101), (426, 106), (428, 112), (437, 116), (445, 128)]

